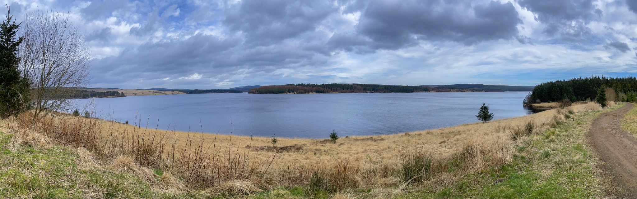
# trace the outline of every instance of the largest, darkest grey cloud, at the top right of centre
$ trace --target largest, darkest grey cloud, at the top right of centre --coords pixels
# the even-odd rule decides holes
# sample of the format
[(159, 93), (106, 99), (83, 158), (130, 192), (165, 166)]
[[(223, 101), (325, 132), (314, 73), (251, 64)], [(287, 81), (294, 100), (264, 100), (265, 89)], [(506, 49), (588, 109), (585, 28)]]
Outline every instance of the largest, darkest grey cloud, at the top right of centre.
[(331, 46), (368, 52), (394, 50), (422, 40), (473, 45), (514, 39), (519, 33), (517, 25), (522, 23), (512, 3), (496, 1), (369, 1), (361, 7), (358, 34), (334, 34)]

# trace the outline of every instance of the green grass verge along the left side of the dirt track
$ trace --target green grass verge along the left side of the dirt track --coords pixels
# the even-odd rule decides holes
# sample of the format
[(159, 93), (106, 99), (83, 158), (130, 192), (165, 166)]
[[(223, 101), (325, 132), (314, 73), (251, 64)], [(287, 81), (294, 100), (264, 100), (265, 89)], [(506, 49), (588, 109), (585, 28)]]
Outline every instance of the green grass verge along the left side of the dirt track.
[(602, 197), (604, 185), (594, 167), (598, 161), (594, 160), (585, 135), (600, 113), (622, 106), (574, 114), (555, 128), (530, 135), (526, 143), (515, 146), (517, 152), (511, 163), (470, 173), (455, 186), (440, 191), (414, 191), (400, 198)]

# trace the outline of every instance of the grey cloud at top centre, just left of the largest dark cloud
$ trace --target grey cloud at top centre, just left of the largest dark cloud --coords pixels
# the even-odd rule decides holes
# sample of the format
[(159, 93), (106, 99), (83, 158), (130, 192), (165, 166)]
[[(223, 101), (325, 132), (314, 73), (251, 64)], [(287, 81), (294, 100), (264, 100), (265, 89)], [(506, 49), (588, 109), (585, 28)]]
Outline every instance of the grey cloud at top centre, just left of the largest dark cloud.
[(249, 44), (269, 45), (314, 31), (319, 22), (338, 8), (330, 1), (245, 0), (223, 23), (241, 31)]

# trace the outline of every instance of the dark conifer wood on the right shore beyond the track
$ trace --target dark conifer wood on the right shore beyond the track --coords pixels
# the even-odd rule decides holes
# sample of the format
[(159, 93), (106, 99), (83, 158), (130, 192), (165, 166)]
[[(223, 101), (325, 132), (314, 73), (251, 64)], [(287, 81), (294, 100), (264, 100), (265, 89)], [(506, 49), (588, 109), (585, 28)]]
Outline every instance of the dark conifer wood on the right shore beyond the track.
[(607, 78), (590, 76), (541, 83), (533, 88), (525, 104), (540, 102), (571, 102), (595, 100), (598, 95), (606, 95), (608, 100), (634, 102), (637, 100), (637, 78)]

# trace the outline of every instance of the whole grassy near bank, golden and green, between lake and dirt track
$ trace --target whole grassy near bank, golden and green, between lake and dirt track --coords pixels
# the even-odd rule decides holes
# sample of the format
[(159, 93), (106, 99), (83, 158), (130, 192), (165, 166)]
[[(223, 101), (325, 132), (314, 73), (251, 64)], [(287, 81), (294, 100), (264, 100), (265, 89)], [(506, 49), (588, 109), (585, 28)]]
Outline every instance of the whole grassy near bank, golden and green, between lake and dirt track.
[[(373, 137), (198, 134), (82, 116), (1, 121), (0, 198), (597, 198), (595, 102)], [(631, 119), (633, 120), (633, 119)]]

